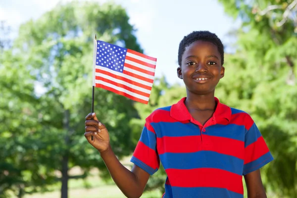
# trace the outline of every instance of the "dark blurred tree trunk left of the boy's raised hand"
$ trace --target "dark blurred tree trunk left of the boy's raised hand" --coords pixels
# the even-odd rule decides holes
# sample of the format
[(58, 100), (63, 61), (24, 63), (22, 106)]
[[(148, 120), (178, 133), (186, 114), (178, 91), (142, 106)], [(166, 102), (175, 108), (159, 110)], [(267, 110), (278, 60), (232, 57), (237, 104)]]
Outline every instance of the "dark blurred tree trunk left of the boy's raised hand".
[(64, 130), (66, 131), (65, 134), (65, 145), (67, 146), (67, 150), (65, 150), (63, 158), (62, 158), (62, 187), (61, 187), (61, 198), (68, 198), (68, 146), (70, 142), (70, 113), (69, 110), (65, 110), (64, 112)]

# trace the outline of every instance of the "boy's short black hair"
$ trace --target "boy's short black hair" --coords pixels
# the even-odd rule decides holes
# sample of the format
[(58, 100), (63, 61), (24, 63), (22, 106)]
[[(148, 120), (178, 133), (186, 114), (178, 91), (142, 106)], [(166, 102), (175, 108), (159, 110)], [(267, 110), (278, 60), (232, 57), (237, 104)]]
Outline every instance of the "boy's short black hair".
[(219, 53), (221, 54), (222, 65), (224, 64), (224, 46), (221, 40), (216, 36), (216, 34), (209, 31), (194, 31), (183, 38), (180, 42), (178, 49), (178, 64), (182, 65), (182, 56), (186, 50), (186, 47), (190, 46), (195, 41), (207, 41), (211, 42), (218, 48)]

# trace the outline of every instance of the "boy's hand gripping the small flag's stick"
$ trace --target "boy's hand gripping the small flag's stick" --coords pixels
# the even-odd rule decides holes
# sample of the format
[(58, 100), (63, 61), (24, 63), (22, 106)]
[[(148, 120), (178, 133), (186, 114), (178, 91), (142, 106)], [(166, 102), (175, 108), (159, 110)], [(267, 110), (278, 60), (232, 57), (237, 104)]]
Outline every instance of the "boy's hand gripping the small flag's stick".
[[(94, 136), (93, 141), (91, 136)], [(96, 113), (89, 113), (86, 116), (85, 137), (93, 147), (99, 150), (100, 153), (106, 151), (110, 147), (108, 131), (104, 124), (99, 122)]]

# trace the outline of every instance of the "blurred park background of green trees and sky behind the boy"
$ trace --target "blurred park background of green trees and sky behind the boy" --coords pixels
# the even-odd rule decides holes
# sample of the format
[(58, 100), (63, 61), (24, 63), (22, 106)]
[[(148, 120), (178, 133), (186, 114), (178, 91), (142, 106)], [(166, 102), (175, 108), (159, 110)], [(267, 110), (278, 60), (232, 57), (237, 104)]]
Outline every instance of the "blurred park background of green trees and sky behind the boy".
[[(157, 58), (148, 105), (95, 90), (131, 168), (145, 118), (186, 96), (177, 52), (195, 30), (223, 41), (215, 95), (252, 116), (275, 158), (261, 169), (268, 197), (297, 198), (297, 0), (0, 0), (0, 198), (124, 198), (83, 135), (94, 36)], [(160, 198), (165, 178), (142, 198)]]

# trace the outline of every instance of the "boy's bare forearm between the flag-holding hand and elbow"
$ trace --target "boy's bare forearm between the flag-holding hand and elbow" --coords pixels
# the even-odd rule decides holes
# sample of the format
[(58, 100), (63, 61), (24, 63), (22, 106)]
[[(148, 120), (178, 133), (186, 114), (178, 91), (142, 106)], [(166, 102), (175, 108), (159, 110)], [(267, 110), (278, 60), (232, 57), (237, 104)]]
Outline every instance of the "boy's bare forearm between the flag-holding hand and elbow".
[(100, 153), (113, 181), (128, 198), (139, 198), (143, 194), (136, 175), (123, 166), (111, 148)]

